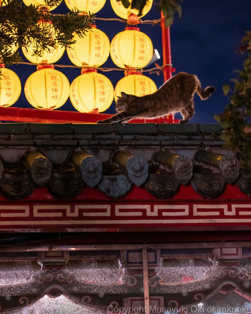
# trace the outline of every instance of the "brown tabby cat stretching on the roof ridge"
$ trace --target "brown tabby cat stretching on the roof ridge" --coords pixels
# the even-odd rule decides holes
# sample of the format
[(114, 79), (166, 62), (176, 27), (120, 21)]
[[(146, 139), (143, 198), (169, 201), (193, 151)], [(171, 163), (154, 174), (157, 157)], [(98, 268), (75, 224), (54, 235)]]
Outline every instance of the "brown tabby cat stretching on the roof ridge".
[(166, 81), (155, 93), (145, 96), (121, 92), (115, 109), (117, 114), (97, 123), (127, 122), (135, 118), (157, 118), (180, 112), (179, 123), (187, 123), (194, 116), (194, 94), (206, 100), (215, 91), (213, 86), (202, 89), (196, 75), (180, 72)]

